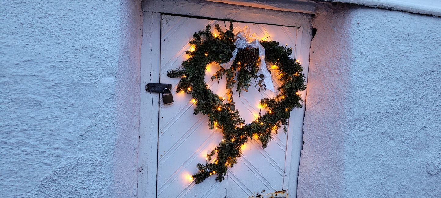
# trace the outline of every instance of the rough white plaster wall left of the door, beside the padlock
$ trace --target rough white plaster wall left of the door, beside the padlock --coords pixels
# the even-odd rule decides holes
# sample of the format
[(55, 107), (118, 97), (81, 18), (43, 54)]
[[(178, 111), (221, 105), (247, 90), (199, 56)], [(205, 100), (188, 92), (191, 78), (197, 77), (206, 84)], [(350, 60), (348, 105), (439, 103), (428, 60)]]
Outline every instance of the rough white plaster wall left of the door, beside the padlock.
[(0, 197), (135, 197), (139, 0), (3, 1)]

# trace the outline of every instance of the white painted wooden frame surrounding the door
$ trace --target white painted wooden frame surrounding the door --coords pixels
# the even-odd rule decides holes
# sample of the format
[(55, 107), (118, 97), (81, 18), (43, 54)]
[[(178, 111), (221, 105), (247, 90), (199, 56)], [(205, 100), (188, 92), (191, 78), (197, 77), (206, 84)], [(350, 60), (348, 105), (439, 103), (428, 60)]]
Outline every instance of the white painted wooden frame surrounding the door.
[[(161, 83), (160, 81), (160, 53), (161, 53), (161, 15), (180, 15), (192, 18), (207, 18), (213, 20), (230, 20), (238, 22), (263, 23), (269, 25), (299, 27), (297, 36), (296, 59), (302, 62), (303, 74), (308, 78), (309, 48), (312, 39), (312, 25), (309, 14), (291, 11), (277, 11), (257, 7), (224, 4), (211, 1), (143, 1), (143, 31), (141, 45), (141, 84), (140, 84), (140, 125), (138, 146), (138, 188), (137, 194), (141, 198), (156, 198), (157, 196), (157, 152), (158, 152), (158, 122), (159, 122), (159, 97), (157, 93), (145, 91), (147, 83)], [(228, 16), (228, 17), (226, 17)], [(251, 17), (250, 17), (251, 16)], [(258, 18), (256, 20), (255, 18)], [(195, 29), (194, 31), (198, 31)], [(305, 101), (306, 90), (301, 92)], [(303, 117), (305, 105), (295, 108), (289, 119), (288, 140), (291, 140), (291, 149), (287, 149), (285, 160), (285, 178), (290, 177), (288, 189), (297, 191), (297, 177), (300, 150), (303, 146)], [(289, 171), (286, 168), (290, 168)], [(295, 173), (295, 174), (291, 174)], [(284, 183), (284, 186), (285, 183)]]

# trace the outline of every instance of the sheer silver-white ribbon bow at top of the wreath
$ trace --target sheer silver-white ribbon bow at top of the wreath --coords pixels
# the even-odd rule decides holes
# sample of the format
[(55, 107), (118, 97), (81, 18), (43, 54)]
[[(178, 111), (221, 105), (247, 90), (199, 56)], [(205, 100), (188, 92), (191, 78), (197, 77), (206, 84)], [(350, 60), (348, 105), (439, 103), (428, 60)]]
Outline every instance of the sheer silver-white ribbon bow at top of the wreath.
[(233, 56), (231, 57), (230, 61), (226, 63), (221, 63), (221, 66), (226, 70), (230, 69), (231, 65), (234, 62), (234, 59), (236, 58), (236, 54), (240, 49), (244, 49), (247, 47), (258, 48), (260, 56), (260, 66), (264, 75), (263, 81), (265, 82), (266, 88), (269, 91), (274, 92), (274, 85), (273, 81), (271, 80), (271, 74), (268, 72), (265, 64), (265, 48), (263, 48), (263, 46), (260, 44), (259, 38), (256, 36), (256, 33), (250, 35), (250, 27), (244, 26), (242, 31), (239, 31), (236, 34), (236, 41), (234, 42), (234, 45), (236, 46), (236, 48), (231, 53)]

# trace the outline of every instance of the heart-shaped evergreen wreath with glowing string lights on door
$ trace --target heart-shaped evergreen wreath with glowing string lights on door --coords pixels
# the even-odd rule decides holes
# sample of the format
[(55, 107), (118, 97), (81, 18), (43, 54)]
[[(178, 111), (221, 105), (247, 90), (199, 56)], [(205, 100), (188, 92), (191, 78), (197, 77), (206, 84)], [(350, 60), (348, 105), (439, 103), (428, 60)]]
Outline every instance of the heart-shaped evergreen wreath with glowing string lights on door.
[[(235, 62), (228, 70), (221, 67), (212, 80), (219, 80), (226, 74), (226, 88), (228, 100), (214, 94), (204, 81), (206, 66), (210, 63), (228, 62), (235, 49), (234, 26), (231, 21), (227, 31), (223, 31), (219, 24), (215, 25), (218, 35), (211, 32), (211, 26), (208, 24), (203, 31), (194, 33), (190, 44), (193, 46), (190, 51), (186, 51), (190, 58), (182, 62), (182, 67), (169, 70), (168, 77), (181, 78), (177, 84), (176, 92), (186, 92), (196, 100), (194, 115), (204, 114), (208, 116), (208, 126), (211, 130), (219, 128), (224, 138), (219, 145), (215, 147), (210, 154), (207, 154), (206, 164), (196, 165), (198, 172), (194, 173), (195, 183), (201, 183), (206, 178), (217, 174), (216, 180), (221, 182), (227, 173), (229, 167), (237, 163), (237, 158), (242, 154), (241, 146), (246, 144), (253, 135), (257, 135), (262, 147), (267, 147), (272, 139), (272, 132), (277, 133), (280, 125), (287, 133), (288, 119), (290, 112), (295, 107), (302, 107), (303, 100), (299, 92), (306, 89), (305, 77), (301, 73), (303, 67), (295, 59), (289, 58), (292, 54), (292, 48), (279, 46), (274, 40), (260, 41), (265, 48), (265, 61), (271, 63), (279, 69), (277, 77), (282, 83), (279, 93), (269, 99), (262, 99), (260, 103), (267, 108), (265, 114), (260, 114), (258, 119), (245, 124), (244, 119), (239, 116), (239, 111), (235, 110), (232, 88), (236, 85), (236, 91), (247, 91), (252, 78), (256, 79), (256, 85), (259, 92), (265, 89), (262, 84), (263, 74), (258, 75), (258, 60), (256, 49), (245, 48), (238, 52)], [(245, 51), (246, 50), (246, 51)], [(243, 55), (239, 55), (242, 53)], [(240, 59), (240, 60), (239, 60)], [(247, 59), (247, 63), (241, 64), (240, 61)], [(266, 68), (263, 68), (266, 69)], [(234, 80), (237, 70), (237, 81)], [(216, 160), (208, 163), (212, 158)]]

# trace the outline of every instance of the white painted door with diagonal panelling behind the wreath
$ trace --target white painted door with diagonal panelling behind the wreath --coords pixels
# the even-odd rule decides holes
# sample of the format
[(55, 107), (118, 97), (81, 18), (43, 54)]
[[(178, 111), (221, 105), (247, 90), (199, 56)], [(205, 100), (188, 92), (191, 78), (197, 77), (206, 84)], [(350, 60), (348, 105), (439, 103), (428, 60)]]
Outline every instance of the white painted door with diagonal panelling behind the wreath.
[[(212, 176), (200, 184), (194, 184), (190, 176), (197, 171), (197, 163), (205, 163), (208, 154), (222, 139), (221, 131), (210, 130), (207, 117), (194, 115), (194, 102), (191, 95), (176, 93), (179, 79), (167, 77), (167, 71), (180, 67), (181, 62), (188, 58), (185, 51), (191, 48), (189, 41), (194, 32), (203, 30), (207, 24), (219, 23), (228, 27), (229, 22), (214, 21), (200, 18), (161, 15), (161, 83), (173, 85), (172, 105), (163, 105), (160, 99), (159, 133), (157, 156), (157, 197), (158, 198), (247, 198), (255, 196), (256, 192), (267, 194), (287, 190), (290, 178), (290, 166), (298, 167), (298, 161), (292, 162), (292, 156), (299, 156), (301, 145), (294, 145), (294, 123), (289, 124), (289, 132), (283, 130), (276, 135), (266, 149), (262, 149), (258, 140), (252, 140), (244, 146), (243, 156), (239, 163), (229, 169), (225, 180), (221, 183)], [(250, 26), (251, 33), (259, 38), (277, 40), (280, 44), (292, 47), (292, 58), (299, 54), (299, 43), (302, 31), (298, 27), (274, 26), (253, 23), (234, 22), (235, 32), (243, 26)], [(214, 29), (212, 30), (215, 31)], [(209, 65), (206, 71), (206, 82), (213, 92), (224, 96), (225, 82), (211, 81), (210, 77), (219, 69), (219, 65)], [(306, 70), (307, 71), (307, 70)], [(274, 74), (274, 73), (273, 73)], [(223, 78), (222, 80), (224, 80)], [(274, 84), (280, 84), (273, 78)], [(262, 98), (273, 97), (276, 93), (258, 92), (253, 86), (249, 92), (243, 92), (240, 97), (234, 94), (236, 109), (246, 123), (253, 121), (259, 113)], [(265, 110), (262, 110), (265, 112)], [(291, 116), (294, 115), (294, 111)], [(290, 122), (294, 122), (290, 120)], [(301, 122), (300, 122), (301, 123)], [(297, 132), (299, 133), (299, 132)], [(299, 144), (299, 141), (296, 141)], [(293, 153), (298, 152), (298, 153)], [(297, 170), (297, 169), (295, 169)], [(292, 172), (292, 171), (291, 171)], [(297, 172), (292, 173), (297, 175)], [(289, 189), (288, 189), (289, 190)], [(263, 191), (263, 192), (262, 192)], [(289, 193), (289, 191), (288, 191)], [(295, 193), (295, 192), (293, 192)]]

